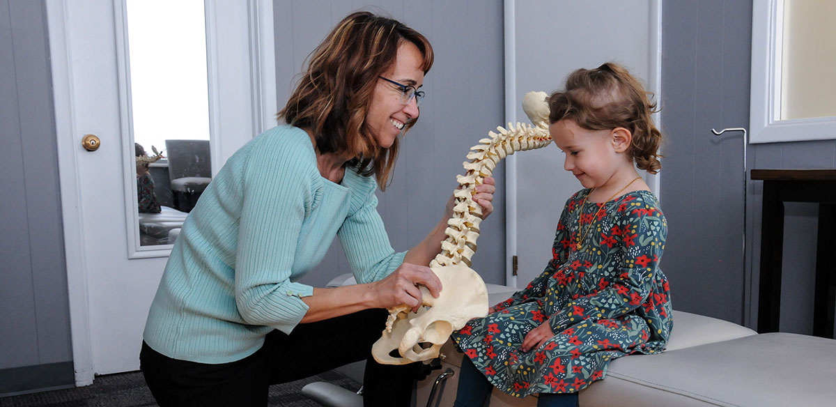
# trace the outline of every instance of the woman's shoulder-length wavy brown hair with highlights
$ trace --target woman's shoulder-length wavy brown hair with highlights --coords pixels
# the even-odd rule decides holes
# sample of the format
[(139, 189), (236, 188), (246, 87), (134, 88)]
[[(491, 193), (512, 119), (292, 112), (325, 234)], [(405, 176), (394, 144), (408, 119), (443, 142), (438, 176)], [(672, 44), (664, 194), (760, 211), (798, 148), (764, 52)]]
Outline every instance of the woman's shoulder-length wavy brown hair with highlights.
[[(369, 12), (350, 14), (339, 22), (314, 52), (308, 69), (279, 119), (314, 132), (320, 154), (349, 152), (349, 166), (362, 176), (375, 176), (381, 190), (395, 166), (399, 140), (389, 148), (378, 145), (365, 122), (378, 76), (395, 65), (398, 47), (414, 43), (424, 57), (426, 74), (432, 67), (430, 41), (404, 23)], [(415, 125), (410, 120), (403, 132)]]

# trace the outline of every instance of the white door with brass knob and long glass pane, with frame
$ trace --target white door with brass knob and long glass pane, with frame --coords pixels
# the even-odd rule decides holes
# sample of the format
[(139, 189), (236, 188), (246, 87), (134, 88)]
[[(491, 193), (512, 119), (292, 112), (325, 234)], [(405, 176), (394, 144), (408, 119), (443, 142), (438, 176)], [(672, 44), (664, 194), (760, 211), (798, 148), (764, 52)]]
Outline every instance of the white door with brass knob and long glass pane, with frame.
[[(171, 250), (137, 238), (124, 2), (47, 0), (78, 385), (139, 369), (145, 317)], [(268, 0), (206, 0), (205, 9), (217, 171), (273, 124), (273, 9)], [(87, 134), (99, 137), (99, 150), (82, 148)]]

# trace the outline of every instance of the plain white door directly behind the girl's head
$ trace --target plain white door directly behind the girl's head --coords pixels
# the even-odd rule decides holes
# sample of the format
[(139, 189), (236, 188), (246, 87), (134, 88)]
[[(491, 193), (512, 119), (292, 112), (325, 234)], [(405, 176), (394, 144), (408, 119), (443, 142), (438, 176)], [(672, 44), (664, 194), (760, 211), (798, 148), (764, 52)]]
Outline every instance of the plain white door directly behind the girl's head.
[[(507, 120), (528, 122), (522, 106), (528, 91), (551, 94), (574, 69), (609, 61), (624, 64), (643, 79), (658, 100), (660, 3), (506, 0)], [(563, 38), (565, 33), (571, 33), (570, 40)], [(563, 170), (563, 153), (554, 145), (506, 160), (507, 285), (525, 287), (552, 258), (563, 204), (582, 186)], [(657, 176), (647, 175), (645, 181), (659, 193)], [(515, 255), (517, 275), (512, 266)]]

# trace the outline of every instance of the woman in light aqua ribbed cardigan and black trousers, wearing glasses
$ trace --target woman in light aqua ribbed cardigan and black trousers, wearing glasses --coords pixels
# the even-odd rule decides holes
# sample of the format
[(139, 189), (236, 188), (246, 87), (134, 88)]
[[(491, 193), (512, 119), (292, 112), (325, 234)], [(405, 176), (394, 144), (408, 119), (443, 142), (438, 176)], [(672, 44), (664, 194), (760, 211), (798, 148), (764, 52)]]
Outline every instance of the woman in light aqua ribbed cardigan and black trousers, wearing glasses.
[[(227, 161), (186, 218), (145, 326), (141, 369), (158, 403), (265, 405), (268, 385), (367, 359), (366, 405), (409, 405), (415, 365), (370, 357), (386, 311), (417, 309), (441, 221), (396, 253), (376, 211), (397, 136), (415, 124), (433, 61), (428, 40), (372, 13), (344, 18), (268, 130)], [(492, 211), (493, 181), (477, 202)], [(298, 282), (334, 236), (359, 284)]]

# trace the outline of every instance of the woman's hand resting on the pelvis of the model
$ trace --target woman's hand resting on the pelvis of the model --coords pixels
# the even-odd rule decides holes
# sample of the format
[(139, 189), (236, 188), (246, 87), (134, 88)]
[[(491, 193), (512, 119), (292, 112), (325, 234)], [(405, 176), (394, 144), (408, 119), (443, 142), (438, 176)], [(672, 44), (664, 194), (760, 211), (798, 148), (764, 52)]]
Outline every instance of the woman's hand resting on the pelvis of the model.
[(438, 298), (442, 288), (441, 280), (430, 267), (411, 263), (401, 264), (395, 272), (371, 284), (378, 301), (375, 308), (392, 308), (406, 304), (414, 313), (418, 312), (422, 303), (421, 289), (418, 285), (426, 287), (435, 298)]

